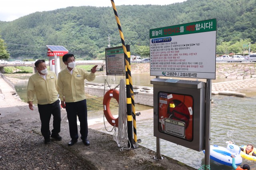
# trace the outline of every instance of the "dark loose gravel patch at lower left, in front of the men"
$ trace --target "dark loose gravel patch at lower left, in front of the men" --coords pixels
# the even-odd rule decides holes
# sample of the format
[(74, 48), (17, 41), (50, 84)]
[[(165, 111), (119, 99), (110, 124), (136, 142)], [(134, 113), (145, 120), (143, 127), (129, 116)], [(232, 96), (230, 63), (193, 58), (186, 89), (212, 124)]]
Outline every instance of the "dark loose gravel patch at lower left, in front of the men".
[[(18, 125), (19, 121), (14, 123)], [(0, 127), (0, 169), (2, 170), (89, 170), (83, 160), (58, 144), (44, 144), (42, 136), (18, 127)]]

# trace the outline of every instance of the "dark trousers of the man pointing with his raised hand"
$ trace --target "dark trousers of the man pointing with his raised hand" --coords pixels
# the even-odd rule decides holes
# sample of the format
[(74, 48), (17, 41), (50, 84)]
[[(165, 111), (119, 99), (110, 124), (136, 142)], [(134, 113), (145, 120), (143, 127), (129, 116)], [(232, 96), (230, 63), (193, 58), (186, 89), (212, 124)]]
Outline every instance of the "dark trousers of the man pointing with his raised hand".
[(66, 111), (68, 116), (69, 133), (72, 139), (78, 139), (77, 119), (80, 122), (81, 139), (87, 139), (88, 124), (87, 124), (87, 106), (86, 99), (77, 102), (66, 102)]

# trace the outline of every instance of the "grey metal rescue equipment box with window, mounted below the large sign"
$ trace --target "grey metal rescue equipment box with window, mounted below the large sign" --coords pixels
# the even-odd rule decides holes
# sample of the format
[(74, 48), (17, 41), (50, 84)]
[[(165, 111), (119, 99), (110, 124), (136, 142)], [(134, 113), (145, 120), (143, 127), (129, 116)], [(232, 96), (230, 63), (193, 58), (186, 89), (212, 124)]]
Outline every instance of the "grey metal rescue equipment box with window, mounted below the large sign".
[(205, 83), (179, 79), (152, 79), (154, 136), (204, 150)]

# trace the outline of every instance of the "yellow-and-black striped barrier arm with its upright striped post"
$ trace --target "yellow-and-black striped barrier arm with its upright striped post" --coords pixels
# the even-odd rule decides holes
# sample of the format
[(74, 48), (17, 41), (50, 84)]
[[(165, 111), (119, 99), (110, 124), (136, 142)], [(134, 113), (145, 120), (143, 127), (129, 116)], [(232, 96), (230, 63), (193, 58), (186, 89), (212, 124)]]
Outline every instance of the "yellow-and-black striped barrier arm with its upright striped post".
[[(124, 42), (124, 35), (123, 35), (123, 32), (122, 32), (122, 28), (121, 28), (120, 20), (118, 18), (118, 14), (117, 14), (116, 5), (114, 3), (114, 0), (111, 0), (111, 3), (112, 3), (112, 7), (113, 7), (114, 14), (115, 14), (115, 17), (116, 17), (116, 22), (117, 22), (117, 26), (118, 26), (118, 29), (119, 29), (120, 38), (121, 38), (121, 41), (122, 41), (122, 46), (123, 46), (123, 49), (124, 49), (125, 69), (126, 69), (125, 73), (126, 73), (127, 131), (128, 131), (128, 139), (131, 143), (131, 147), (134, 148), (133, 140), (132, 140), (132, 121), (133, 121), (132, 116), (135, 117), (135, 107), (134, 107), (134, 96), (133, 96), (134, 93), (133, 93), (133, 87), (132, 87), (132, 75), (131, 75), (131, 71), (130, 71), (131, 68), (130, 68), (130, 63), (128, 61), (128, 52), (126, 50), (126, 45), (125, 45), (125, 42)], [(133, 111), (134, 111), (134, 113), (133, 113)], [(136, 123), (135, 123), (135, 125), (136, 125)], [(136, 137), (136, 140), (134, 142), (137, 142), (137, 137)]]

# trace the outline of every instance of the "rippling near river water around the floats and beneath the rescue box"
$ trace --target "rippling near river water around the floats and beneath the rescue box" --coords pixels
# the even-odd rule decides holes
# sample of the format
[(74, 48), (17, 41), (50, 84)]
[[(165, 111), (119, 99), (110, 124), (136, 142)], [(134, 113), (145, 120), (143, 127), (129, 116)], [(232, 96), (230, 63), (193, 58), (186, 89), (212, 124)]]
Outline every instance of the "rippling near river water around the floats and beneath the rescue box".
[[(254, 130), (256, 97), (234, 97), (226, 95), (212, 96), (214, 103), (211, 110), (211, 140), (210, 144), (218, 144), (226, 148), (226, 141), (234, 141), (238, 145), (256, 144)], [(247, 122), (247, 123), (246, 123)], [(137, 138), (142, 140), (141, 146), (156, 151), (156, 137), (154, 137), (153, 119), (137, 121)], [(107, 132), (104, 128), (100, 131)], [(161, 139), (161, 154), (183, 162), (194, 168), (204, 165), (204, 153), (186, 148)], [(255, 161), (243, 158), (242, 164), (256, 169)], [(219, 164), (210, 160), (212, 170), (232, 170), (231, 166)]]

